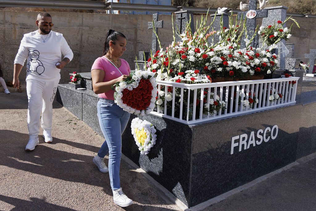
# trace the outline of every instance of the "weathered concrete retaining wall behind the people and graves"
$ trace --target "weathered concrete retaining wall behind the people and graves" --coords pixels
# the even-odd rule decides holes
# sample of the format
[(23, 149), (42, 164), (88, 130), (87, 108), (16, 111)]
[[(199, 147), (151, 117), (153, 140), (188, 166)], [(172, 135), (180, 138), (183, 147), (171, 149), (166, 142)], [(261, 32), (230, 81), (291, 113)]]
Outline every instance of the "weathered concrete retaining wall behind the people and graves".
[[(23, 34), (37, 29), (37, 12), (0, 10), (0, 65), (5, 80), (13, 79), (13, 61), (18, 51)], [(102, 56), (103, 43), (108, 29), (120, 31), (127, 37), (127, 50), (123, 59), (134, 68), (135, 55), (139, 51), (151, 49), (152, 30), (147, 29), (151, 15), (115, 15), (51, 12), (54, 23), (53, 31), (64, 34), (74, 59), (61, 71), (61, 83), (67, 83), (69, 72), (88, 72), (97, 57)], [(159, 30), (163, 47), (171, 44), (172, 23), (170, 15), (161, 15), (164, 28)], [(295, 33), (287, 43), (295, 43), (295, 58), (304, 59), (304, 53), (316, 49), (315, 19), (297, 18), (301, 29), (293, 28)], [(288, 24), (289, 25), (289, 24)], [(21, 83), (25, 83), (26, 68), (20, 74)]]

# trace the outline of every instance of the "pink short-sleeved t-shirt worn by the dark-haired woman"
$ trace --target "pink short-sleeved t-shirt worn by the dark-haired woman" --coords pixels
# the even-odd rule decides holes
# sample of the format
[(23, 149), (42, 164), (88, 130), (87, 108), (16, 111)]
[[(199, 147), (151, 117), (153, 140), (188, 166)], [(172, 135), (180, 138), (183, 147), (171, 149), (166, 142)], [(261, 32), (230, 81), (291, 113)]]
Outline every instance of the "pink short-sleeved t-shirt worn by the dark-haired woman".
[[(122, 74), (123, 75), (129, 75), (131, 72), (130, 65), (125, 61), (124, 59), (121, 59), (121, 66), (119, 67), (119, 71), (109, 62), (104, 56), (99, 57), (98, 59), (95, 59), (91, 70), (99, 69), (103, 70), (105, 75), (103, 82), (111, 81), (115, 78), (119, 78)], [(114, 90), (109, 90), (105, 93), (98, 94), (99, 97), (114, 100)]]

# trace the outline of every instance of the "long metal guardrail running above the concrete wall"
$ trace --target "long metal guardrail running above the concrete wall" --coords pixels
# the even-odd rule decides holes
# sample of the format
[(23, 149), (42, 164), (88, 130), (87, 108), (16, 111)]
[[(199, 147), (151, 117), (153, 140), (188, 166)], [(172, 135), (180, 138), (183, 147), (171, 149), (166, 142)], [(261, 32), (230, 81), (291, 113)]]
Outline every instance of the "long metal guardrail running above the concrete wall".
[[(153, 12), (176, 12), (189, 10), (196, 14), (215, 13), (217, 9), (203, 7), (177, 7), (169, 5), (154, 4), (132, 4), (132, 3), (115, 3), (115, 2), (98, 2), (83, 0), (0, 0), (1, 7), (43, 7), (54, 9), (98, 9), (98, 10), (124, 10), (124, 11), (153, 11)], [(241, 12), (234, 9), (233, 13)], [(316, 18), (316, 15), (287, 13), (287, 16)]]

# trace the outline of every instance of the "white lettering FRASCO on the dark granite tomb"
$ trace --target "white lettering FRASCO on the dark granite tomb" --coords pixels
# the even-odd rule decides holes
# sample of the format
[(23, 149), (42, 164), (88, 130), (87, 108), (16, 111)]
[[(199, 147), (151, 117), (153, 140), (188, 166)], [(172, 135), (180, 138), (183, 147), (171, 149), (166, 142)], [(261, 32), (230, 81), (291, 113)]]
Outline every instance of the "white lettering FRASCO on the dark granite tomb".
[[(269, 135), (270, 132), (270, 135)], [(266, 127), (264, 130), (259, 129), (257, 133), (252, 131), (248, 137), (246, 133), (232, 137), (230, 154), (234, 154), (234, 148), (238, 146), (238, 151), (249, 149), (251, 146), (260, 145), (263, 141), (275, 140), (279, 132), (279, 127), (274, 125), (272, 128)], [(271, 138), (271, 139), (270, 139)]]

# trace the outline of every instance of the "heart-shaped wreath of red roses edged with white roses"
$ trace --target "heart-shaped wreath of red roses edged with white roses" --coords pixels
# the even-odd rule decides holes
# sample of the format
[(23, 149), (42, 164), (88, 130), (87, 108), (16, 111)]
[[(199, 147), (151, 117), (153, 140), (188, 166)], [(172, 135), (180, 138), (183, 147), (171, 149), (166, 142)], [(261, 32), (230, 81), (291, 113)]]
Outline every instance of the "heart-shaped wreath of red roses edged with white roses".
[(114, 99), (123, 110), (135, 114), (149, 114), (155, 108), (157, 83), (151, 71), (131, 72), (131, 78), (115, 85)]

